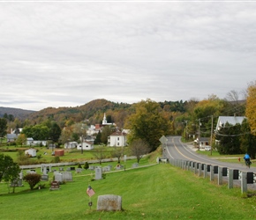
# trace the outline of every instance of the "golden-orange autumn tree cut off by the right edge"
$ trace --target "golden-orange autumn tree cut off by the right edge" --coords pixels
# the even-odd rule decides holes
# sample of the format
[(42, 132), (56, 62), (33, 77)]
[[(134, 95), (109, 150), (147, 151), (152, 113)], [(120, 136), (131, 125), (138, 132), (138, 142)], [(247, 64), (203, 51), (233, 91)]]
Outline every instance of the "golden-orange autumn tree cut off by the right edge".
[(256, 81), (247, 88), (245, 116), (248, 119), (252, 135), (256, 136)]

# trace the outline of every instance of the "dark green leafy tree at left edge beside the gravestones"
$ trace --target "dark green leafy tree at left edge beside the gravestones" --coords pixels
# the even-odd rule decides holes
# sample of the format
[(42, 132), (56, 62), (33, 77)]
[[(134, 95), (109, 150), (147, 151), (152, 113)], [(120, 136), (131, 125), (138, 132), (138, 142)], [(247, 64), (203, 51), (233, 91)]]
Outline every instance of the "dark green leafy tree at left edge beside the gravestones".
[(19, 172), (19, 165), (14, 163), (10, 156), (0, 154), (0, 182), (2, 180), (5, 182), (16, 180), (19, 177)]

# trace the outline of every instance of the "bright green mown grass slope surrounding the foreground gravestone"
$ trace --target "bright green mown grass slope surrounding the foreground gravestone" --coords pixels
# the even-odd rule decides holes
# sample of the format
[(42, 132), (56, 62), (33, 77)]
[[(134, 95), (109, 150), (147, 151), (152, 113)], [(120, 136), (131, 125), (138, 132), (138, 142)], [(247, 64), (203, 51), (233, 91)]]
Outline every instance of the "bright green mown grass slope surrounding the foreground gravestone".
[[(145, 159), (147, 161), (147, 159)], [(144, 162), (145, 162), (144, 161)], [(146, 163), (146, 162), (145, 162)], [(256, 198), (240, 188), (217, 186), (208, 179), (172, 165), (151, 165), (107, 173), (90, 181), (89, 173), (73, 176), (58, 191), (19, 187), (16, 194), (0, 195), (1, 219), (253, 219)], [(96, 194), (88, 206), (88, 183)], [(1, 192), (4, 184), (0, 186)], [(123, 211), (97, 211), (97, 197), (122, 196)]]

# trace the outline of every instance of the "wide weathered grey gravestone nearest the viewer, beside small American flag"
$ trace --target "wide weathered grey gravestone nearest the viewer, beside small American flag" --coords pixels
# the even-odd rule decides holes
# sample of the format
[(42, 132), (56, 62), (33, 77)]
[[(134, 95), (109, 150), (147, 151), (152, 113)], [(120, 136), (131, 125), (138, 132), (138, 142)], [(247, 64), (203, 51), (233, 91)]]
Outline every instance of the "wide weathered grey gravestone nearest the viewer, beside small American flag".
[(122, 210), (122, 197), (115, 194), (98, 196), (97, 210), (119, 211)]

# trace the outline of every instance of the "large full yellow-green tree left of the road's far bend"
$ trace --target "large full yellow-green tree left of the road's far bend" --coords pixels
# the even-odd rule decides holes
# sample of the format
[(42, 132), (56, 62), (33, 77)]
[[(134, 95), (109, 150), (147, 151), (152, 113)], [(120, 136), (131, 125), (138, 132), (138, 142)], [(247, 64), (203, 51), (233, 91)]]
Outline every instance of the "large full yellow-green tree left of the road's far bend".
[(159, 138), (171, 133), (171, 122), (162, 113), (160, 105), (151, 99), (142, 100), (135, 106), (135, 113), (125, 121), (130, 129), (128, 143), (141, 139), (153, 151), (159, 146)]

